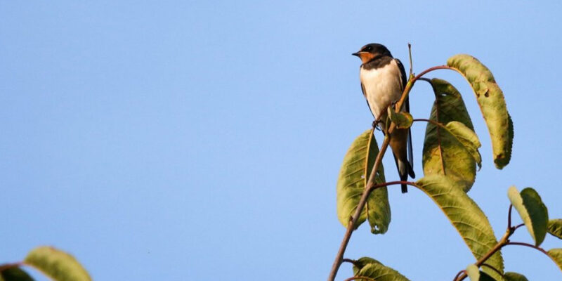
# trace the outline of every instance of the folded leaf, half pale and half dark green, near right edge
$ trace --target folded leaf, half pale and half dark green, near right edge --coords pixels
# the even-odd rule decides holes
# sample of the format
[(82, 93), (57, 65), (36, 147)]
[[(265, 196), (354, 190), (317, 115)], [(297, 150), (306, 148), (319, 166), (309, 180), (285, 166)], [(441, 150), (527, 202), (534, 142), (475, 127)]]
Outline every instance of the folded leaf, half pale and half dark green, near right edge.
[(549, 212), (539, 194), (532, 188), (525, 188), (519, 193), (517, 188), (511, 186), (507, 190), (507, 197), (527, 226), (535, 245), (539, 246), (547, 235), (549, 221)]

